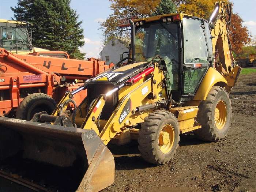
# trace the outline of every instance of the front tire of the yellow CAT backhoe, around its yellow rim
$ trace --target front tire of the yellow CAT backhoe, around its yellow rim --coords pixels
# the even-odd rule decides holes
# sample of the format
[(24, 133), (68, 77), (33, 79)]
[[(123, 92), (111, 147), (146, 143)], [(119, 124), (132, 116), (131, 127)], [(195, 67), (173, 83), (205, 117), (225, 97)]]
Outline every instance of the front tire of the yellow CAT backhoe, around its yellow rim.
[[(163, 153), (159, 145), (159, 135), (165, 125), (171, 125), (174, 130), (173, 144), (167, 153)], [(158, 110), (150, 113), (141, 124), (139, 131), (139, 151), (142, 158), (156, 165), (169, 162), (176, 154), (178, 142), (180, 141), (180, 129), (177, 118), (170, 112)]]

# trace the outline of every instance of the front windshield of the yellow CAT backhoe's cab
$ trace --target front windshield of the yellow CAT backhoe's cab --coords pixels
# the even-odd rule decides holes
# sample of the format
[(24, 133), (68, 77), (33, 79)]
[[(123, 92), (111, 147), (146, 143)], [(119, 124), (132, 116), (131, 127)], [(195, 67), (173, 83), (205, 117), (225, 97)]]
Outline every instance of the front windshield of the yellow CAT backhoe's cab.
[(159, 55), (165, 63), (178, 62), (178, 25), (160, 21), (140, 26), (135, 35), (136, 62)]

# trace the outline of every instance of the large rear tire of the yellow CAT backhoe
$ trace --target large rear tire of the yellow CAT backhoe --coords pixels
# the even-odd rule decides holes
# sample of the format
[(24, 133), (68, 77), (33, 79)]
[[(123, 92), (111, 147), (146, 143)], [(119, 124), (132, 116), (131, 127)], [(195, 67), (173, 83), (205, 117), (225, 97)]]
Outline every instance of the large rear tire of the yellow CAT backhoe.
[[(226, 108), (226, 118), (223, 120), (222, 126), (215, 123), (215, 113), (217, 104), (221, 103)], [(202, 125), (202, 128), (196, 129), (194, 132), (196, 136), (204, 141), (218, 141), (226, 138), (231, 125), (231, 102), (226, 90), (219, 86), (214, 86), (208, 93), (206, 100), (202, 101), (199, 105), (197, 114), (197, 122)], [(224, 113), (220, 112), (219, 117), (223, 117)], [(219, 128), (218, 128), (219, 127)], [(221, 128), (220, 128), (221, 127)]]

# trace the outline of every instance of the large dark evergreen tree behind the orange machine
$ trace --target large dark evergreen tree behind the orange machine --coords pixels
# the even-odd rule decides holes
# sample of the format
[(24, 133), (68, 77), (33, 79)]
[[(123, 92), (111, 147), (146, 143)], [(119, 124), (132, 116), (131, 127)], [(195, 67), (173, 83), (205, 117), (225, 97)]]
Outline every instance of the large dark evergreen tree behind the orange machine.
[(11, 7), (16, 20), (32, 24), (33, 45), (49, 50), (66, 51), (71, 58), (83, 59), (79, 47), (84, 45), (82, 21), (70, 7), (71, 0), (18, 0)]

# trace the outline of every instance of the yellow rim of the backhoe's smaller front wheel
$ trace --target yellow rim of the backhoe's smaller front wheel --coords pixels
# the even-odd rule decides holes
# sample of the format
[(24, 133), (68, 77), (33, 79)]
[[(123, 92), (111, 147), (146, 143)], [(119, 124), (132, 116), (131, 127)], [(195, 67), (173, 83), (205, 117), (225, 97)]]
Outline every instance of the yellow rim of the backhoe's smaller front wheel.
[(159, 139), (158, 139), (159, 148), (162, 153), (166, 154), (172, 149), (174, 138), (175, 138), (175, 131), (173, 126), (170, 124), (164, 125), (159, 133)]

